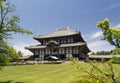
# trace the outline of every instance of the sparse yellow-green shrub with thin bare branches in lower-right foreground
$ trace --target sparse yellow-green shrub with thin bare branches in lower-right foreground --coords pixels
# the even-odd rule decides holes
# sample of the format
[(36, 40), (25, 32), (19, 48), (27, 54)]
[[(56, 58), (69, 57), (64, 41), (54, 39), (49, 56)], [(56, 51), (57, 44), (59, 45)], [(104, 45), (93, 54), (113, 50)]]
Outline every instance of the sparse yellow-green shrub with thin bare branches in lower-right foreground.
[[(118, 58), (116, 58), (119, 60)], [(81, 66), (79, 61), (71, 58), (72, 64), (85, 75), (78, 76), (77, 79), (73, 81), (73, 83), (120, 83), (120, 72), (111, 61), (105, 62), (102, 59), (101, 63), (97, 63), (96, 61), (91, 61), (87, 58), (87, 65)]]

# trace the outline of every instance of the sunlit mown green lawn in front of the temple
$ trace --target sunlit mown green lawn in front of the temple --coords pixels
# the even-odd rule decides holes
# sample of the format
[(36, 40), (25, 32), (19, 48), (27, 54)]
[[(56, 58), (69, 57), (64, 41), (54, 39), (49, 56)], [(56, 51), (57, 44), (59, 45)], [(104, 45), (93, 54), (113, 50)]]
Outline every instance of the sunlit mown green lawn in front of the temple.
[[(81, 63), (81, 66), (88, 66)], [(100, 66), (100, 65), (99, 65)], [(120, 70), (120, 65), (115, 65)], [(0, 83), (70, 83), (84, 72), (70, 63), (7, 66), (0, 71)]]

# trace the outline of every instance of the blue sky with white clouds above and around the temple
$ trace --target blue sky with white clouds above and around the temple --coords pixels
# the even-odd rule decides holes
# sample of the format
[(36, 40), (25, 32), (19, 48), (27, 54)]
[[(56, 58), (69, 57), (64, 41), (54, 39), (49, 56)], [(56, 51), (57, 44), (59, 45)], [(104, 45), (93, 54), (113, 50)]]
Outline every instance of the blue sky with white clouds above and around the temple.
[(14, 14), (21, 18), (20, 26), (33, 35), (13, 34), (9, 42), (25, 55), (30, 54), (25, 46), (36, 45), (33, 39), (56, 28), (80, 31), (91, 51), (111, 50), (101, 41), (102, 32), (96, 22), (109, 18), (111, 27), (120, 27), (120, 0), (10, 0), (17, 8)]

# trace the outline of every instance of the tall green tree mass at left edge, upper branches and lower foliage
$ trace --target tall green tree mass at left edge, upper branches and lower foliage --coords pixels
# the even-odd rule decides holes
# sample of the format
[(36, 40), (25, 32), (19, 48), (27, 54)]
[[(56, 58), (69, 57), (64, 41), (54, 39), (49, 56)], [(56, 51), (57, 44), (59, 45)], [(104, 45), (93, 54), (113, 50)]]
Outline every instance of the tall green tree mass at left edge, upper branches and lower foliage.
[(16, 7), (8, 0), (0, 0), (0, 68), (18, 57), (15, 49), (7, 44), (6, 39), (12, 37), (13, 33), (32, 34), (19, 26), (20, 18), (13, 15), (15, 9)]

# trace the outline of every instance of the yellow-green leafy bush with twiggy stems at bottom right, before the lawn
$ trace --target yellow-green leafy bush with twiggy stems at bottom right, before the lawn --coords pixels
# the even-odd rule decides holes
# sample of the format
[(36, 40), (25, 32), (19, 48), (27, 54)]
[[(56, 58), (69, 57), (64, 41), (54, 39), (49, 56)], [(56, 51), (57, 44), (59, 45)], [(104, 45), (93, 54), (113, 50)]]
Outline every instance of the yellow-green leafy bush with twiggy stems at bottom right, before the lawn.
[[(94, 61), (89, 60), (89, 66), (87, 67), (80, 67), (79, 63), (76, 63), (75, 61), (73, 61), (74, 64), (77, 66), (77, 69), (79, 69), (80, 71), (83, 70), (83, 72), (87, 73), (88, 76), (86, 78), (86, 80), (88, 82), (85, 83), (119, 83), (119, 77), (118, 75), (116, 75), (115, 73), (115, 69), (113, 67), (113, 64), (110, 62), (107, 63), (96, 63)], [(101, 69), (99, 66), (105, 66), (104, 69)], [(89, 69), (89, 70), (88, 70)], [(118, 71), (118, 70), (116, 70)], [(96, 74), (99, 73), (99, 74)], [(83, 76), (84, 77), (84, 76)], [(74, 82), (74, 83), (84, 83), (81, 80), (81, 77), (79, 78), (80, 82)], [(91, 80), (90, 80), (91, 79)], [(84, 79), (83, 79), (84, 81)]]

